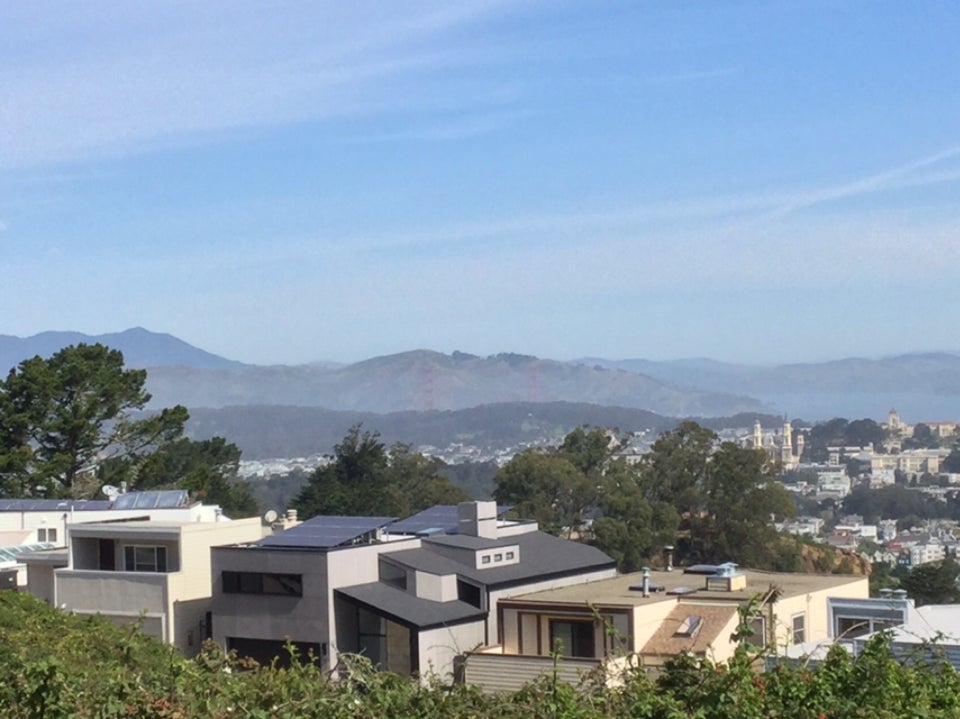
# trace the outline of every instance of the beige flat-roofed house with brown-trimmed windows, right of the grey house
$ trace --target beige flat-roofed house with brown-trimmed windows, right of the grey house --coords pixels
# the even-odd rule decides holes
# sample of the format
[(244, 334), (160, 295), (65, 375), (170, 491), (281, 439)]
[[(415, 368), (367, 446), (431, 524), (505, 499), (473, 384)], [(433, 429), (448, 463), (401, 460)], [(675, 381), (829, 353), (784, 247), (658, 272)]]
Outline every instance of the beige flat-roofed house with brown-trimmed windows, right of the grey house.
[(828, 597), (865, 599), (866, 577), (739, 571), (735, 565), (621, 575), (503, 599), (499, 642), (471, 652), (464, 680), (512, 691), (554, 670), (576, 680), (602, 668), (656, 671), (682, 652), (721, 662), (735, 648), (739, 608), (759, 600), (751, 641), (785, 648), (832, 636)]

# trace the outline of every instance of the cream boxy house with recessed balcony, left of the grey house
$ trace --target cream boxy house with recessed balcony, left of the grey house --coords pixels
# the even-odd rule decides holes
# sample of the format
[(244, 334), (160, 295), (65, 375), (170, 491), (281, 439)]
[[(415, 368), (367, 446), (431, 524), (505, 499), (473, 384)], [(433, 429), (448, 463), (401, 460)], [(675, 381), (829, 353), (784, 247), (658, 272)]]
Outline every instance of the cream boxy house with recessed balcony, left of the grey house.
[(68, 524), (67, 548), (24, 558), (27, 589), (67, 611), (139, 621), (190, 657), (210, 633), (211, 548), (262, 536), (259, 517)]

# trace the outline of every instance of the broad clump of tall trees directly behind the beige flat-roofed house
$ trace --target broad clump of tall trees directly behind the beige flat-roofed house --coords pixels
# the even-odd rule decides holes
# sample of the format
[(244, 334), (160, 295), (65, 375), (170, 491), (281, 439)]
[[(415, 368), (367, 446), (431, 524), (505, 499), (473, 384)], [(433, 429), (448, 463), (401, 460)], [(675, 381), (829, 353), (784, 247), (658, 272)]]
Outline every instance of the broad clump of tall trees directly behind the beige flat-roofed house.
[(639, 463), (617, 451), (610, 432), (578, 428), (558, 447), (516, 455), (494, 497), (546, 531), (589, 539), (624, 571), (662, 562), (668, 544), (679, 559), (777, 564), (770, 518), (796, 507), (765, 453), (718, 445), (695, 422), (662, 434)]

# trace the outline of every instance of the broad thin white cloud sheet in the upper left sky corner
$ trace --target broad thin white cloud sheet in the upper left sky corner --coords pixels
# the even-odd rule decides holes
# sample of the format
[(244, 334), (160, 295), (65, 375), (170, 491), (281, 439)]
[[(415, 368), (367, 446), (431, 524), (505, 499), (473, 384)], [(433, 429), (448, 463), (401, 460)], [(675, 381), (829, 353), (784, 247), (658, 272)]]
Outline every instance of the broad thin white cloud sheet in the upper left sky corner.
[(462, 44), (465, 29), (506, 4), (311, 7), (0, 8), (0, 26), (13, 29), (0, 48), (0, 167), (415, 104), (414, 78), (455, 61), (450, 38)]

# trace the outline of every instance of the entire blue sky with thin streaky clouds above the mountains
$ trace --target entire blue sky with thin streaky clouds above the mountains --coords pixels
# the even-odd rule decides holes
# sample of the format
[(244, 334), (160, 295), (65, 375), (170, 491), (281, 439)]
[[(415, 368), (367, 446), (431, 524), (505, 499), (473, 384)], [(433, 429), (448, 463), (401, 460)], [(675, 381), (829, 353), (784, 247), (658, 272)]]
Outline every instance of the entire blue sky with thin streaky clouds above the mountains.
[(954, 2), (0, 4), (0, 333), (960, 349)]

